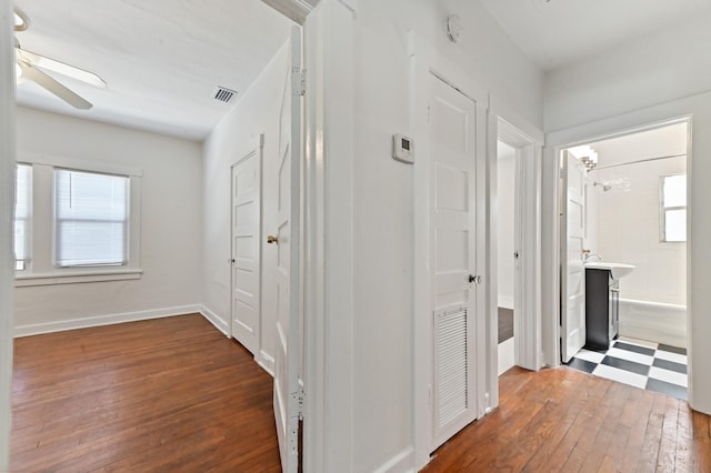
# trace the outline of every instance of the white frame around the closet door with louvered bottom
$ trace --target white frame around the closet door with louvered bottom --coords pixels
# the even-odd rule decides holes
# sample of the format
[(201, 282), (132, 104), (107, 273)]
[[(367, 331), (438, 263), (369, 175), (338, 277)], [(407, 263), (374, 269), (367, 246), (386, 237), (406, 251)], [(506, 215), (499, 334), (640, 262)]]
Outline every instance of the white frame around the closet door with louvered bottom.
[[(432, 346), (433, 330), (431, 313), (433, 310), (433, 282), (431, 279), (431, 212), (430, 194), (433, 189), (434, 177), (430, 173), (430, 140), (428, 123), (429, 80), (434, 74), (449, 83), (459, 92), (472, 99), (477, 104), (477, 229), (480, 238), (477, 241), (478, 265), (477, 273), (482, 276), (475, 302), (474, 340), (475, 340), (475, 386), (477, 417), (481, 417), (495, 406), (498, 402), (497, 374), (497, 338), (492, 330), (495, 314), (488, 308), (495, 299), (495, 281), (492, 278), (492, 259), (490, 245), (493, 241), (491, 231), (491, 212), (489, 189), (491, 184), (491, 167), (488, 153), (488, 103), (485, 90), (475, 83), (465, 72), (452, 61), (442, 58), (435, 49), (417, 32), (409, 33), (410, 50), (410, 133), (414, 138), (417, 157), (413, 165), (414, 195), (414, 253), (413, 253), (413, 323), (412, 323), (412, 358), (413, 358), (413, 439), (414, 461), (419, 470), (430, 459), (433, 442), (433, 411), (432, 411)], [(494, 174), (495, 178), (495, 174)], [(493, 373), (493, 378), (490, 375)], [(493, 393), (493, 395), (492, 395)]]

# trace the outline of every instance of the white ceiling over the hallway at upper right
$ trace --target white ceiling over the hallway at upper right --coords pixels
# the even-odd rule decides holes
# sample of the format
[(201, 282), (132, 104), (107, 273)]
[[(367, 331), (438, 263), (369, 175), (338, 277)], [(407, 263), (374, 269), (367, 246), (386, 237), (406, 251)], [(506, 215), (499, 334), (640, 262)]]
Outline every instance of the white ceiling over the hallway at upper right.
[(549, 71), (699, 14), (711, 0), (481, 0), (538, 67)]

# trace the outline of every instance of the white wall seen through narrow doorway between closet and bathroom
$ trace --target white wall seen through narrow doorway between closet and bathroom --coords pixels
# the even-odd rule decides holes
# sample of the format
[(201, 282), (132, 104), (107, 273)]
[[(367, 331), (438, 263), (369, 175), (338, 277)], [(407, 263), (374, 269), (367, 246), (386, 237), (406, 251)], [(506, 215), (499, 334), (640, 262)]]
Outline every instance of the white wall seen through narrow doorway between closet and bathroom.
[(499, 141), (497, 161), (497, 244), (499, 258), (499, 306), (513, 309), (514, 286), (514, 197), (515, 197), (515, 149)]

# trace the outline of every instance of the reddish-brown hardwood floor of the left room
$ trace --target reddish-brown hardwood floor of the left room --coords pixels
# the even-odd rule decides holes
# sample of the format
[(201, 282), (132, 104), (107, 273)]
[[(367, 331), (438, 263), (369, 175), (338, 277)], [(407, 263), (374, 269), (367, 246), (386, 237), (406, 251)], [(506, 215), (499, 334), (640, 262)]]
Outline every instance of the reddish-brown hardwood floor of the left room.
[(17, 339), (12, 472), (278, 472), (272, 380), (201, 315)]

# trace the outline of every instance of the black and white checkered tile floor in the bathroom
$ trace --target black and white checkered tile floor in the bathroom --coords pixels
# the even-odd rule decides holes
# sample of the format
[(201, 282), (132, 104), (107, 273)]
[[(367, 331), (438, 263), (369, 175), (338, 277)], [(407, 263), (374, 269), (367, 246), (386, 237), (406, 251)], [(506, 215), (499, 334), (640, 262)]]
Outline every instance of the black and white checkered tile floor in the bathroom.
[(607, 352), (581, 350), (568, 366), (643, 390), (687, 399), (685, 349), (621, 339), (614, 340)]

